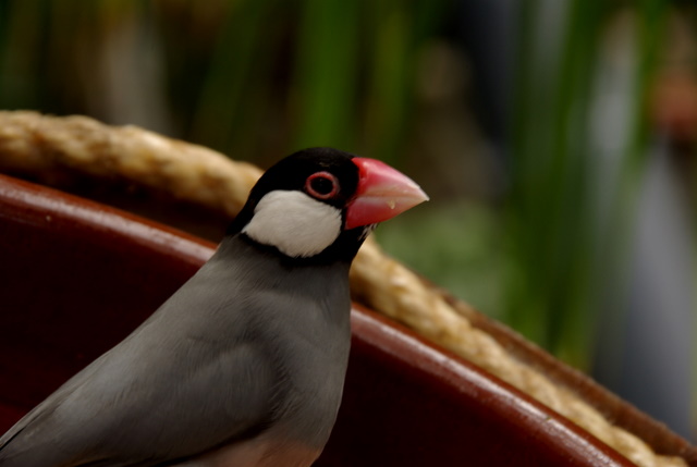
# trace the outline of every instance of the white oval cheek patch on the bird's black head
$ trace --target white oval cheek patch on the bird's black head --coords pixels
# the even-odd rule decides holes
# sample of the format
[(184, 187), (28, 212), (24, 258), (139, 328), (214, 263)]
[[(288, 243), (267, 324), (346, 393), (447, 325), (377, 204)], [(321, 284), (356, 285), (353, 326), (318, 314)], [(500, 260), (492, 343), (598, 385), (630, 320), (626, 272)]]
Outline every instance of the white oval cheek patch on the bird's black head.
[(341, 211), (296, 191), (265, 195), (242, 230), (252, 239), (281, 253), (307, 258), (321, 253), (341, 233)]

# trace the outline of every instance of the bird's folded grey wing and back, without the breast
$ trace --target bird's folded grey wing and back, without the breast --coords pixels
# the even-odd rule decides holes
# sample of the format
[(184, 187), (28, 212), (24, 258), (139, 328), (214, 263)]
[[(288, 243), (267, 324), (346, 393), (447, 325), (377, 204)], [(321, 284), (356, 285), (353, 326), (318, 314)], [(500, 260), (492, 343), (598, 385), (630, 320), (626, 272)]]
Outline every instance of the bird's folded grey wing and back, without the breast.
[(212, 269), (0, 438), (0, 467), (154, 466), (262, 430), (283, 370)]

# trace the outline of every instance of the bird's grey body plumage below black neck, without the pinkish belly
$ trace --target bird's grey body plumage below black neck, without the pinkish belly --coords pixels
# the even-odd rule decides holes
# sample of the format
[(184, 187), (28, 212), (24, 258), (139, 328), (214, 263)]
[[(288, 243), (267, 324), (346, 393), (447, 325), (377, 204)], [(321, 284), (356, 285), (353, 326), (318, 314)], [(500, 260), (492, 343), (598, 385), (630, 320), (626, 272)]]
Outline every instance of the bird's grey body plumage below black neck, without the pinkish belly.
[(296, 268), (227, 238), (146, 322), (0, 438), (0, 467), (156, 466), (265, 430), (320, 448), (348, 355), (347, 269)]

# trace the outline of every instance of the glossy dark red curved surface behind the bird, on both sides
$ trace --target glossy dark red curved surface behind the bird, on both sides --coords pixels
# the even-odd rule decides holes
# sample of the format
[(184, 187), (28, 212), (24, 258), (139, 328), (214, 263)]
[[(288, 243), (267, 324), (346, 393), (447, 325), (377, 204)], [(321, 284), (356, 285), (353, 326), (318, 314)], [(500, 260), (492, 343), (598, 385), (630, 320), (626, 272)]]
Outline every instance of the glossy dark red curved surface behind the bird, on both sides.
[[(0, 431), (123, 339), (212, 245), (0, 176)], [(497, 378), (355, 308), (344, 401), (316, 463), (629, 466)]]

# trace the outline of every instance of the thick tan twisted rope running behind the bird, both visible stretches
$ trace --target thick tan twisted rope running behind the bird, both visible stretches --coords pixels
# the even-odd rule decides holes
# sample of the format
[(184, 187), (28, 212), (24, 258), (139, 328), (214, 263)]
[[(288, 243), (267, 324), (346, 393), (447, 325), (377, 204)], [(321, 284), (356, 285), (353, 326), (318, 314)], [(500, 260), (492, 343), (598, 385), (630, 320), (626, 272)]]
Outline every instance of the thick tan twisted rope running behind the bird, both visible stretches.
[[(2, 168), (48, 173), (70, 169), (123, 177), (230, 216), (241, 209), (261, 174), (248, 163), (134, 126), (112, 127), (84, 116), (51, 118), (35, 112), (0, 112)], [(366, 242), (360, 249), (351, 281), (357, 302), (496, 374), (638, 466), (686, 466), (682, 458), (657, 455), (579, 396), (516, 360), (493, 337), (474, 328), (440, 292), (386, 256), (375, 242)]]

